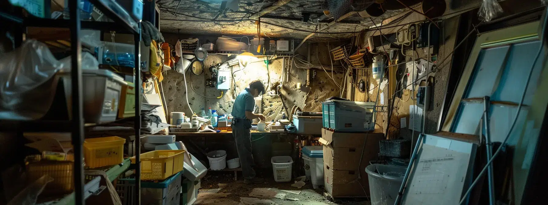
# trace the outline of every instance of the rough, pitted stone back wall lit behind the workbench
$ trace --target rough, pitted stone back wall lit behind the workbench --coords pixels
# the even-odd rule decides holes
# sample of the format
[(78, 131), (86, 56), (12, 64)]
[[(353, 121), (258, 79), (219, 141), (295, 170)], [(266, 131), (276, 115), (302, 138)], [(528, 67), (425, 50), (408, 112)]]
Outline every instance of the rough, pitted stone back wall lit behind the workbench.
[[(174, 44), (177, 39), (177, 36), (170, 34), (164, 34), (164, 37), (166, 42), (170, 44)], [(317, 64), (317, 61), (319, 61), (322, 65), (329, 65), (329, 50), (326, 45), (325, 43), (311, 44), (314, 51), (310, 57), (312, 63)], [(299, 52), (302, 55), (297, 57), (302, 58), (307, 56), (307, 46), (309, 45), (305, 44), (301, 46)], [(318, 47), (317, 52), (316, 46)], [(167, 102), (168, 113), (184, 112), (186, 115), (191, 113), (185, 96), (185, 92), (187, 92), (189, 94), (189, 104), (193, 112), (199, 114), (201, 108), (207, 110), (211, 107), (212, 109), (217, 109), (219, 114), (229, 114), (232, 112), (233, 101), (239, 92), (248, 87), (249, 83), (256, 79), (261, 80), (266, 86), (269, 83), (269, 77), (270, 85), (282, 85), (281, 95), (289, 112), (291, 112), (293, 106), (297, 106), (304, 111), (321, 112), (321, 102), (324, 99), (331, 96), (340, 96), (341, 89), (331, 79), (330, 72), (326, 73), (323, 70), (312, 69), (316, 71), (317, 75), (315, 79), (311, 79), (310, 85), (307, 87), (306, 70), (297, 68), (289, 57), (284, 57), (271, 60), (268, 65), (268, 72), (266, 64), (262, 60), (255, 60), (258, 62), (251, 63), (242, 71), (238, 71), (240, 69), (238, 65), (233, 66), (232, 72), (238, 71), (234, 73), (236, 90), (225, 91), (221, 98), (216, 98), (220, 96), (220, 91), (204, 86), (205, 79), (211, 76), (209, 67), (226, 62), (234, 57), (234, 55), (208, 55), (206, 61), (204, 61), (203, 74), (193, 75), (190, 72), (186, 72), (186, 85), (189, 85), (187, 91), (185, 91), (185, 80), (181, 73), (173, 70), (164, 72), (164, 80), (161, 82), (163, 87), (162, 95), (164, 95)], [(336, 62), (334, 63), (334, 65), (337, 65)], [(282, 68), (284, 64), (292, 66)], [(282, 75), (284, 75), (283, 82), (281, 82)], [(343, 81), (343, 77), (343, 73), (333, 73), (333, 79), (338, 81), (338, 84)], [(301, 86), (298, 87), (298, 85)], [(281, 110), (282, 101), (280, 97), (272, 91), (272, 89), (267, 89), (266, 95), (255, 98), (255, 104), (258, 107), (256, 113), (264, 114), (267, 120), (281, 119), (281, 112), (286, 112), (285, 109)]]

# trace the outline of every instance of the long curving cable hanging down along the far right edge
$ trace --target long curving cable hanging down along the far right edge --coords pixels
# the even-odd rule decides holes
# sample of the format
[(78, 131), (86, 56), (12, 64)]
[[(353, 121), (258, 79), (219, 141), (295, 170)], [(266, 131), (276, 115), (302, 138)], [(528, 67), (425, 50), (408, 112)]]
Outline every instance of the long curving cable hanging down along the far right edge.
[(546, 34), (546, 22), (547, 21), (548, 21), (548, 9), (546, 9), (544, 11), (544, 21), (541, 21), (541, 22), (544, 22), (545, 24), (543, 25), (542, 30), (541, 30), (540, 35), (539, 35), (539, 37), (540, 37), (539, 50), (536, 52), (535, 60), (533, 61), (532, 65), (531, 65), (531, 69), (529, 71), (527, 81), (525, 82), (525, 87), (523, 88), (523, 93), (521, 95), (520, 104), (518, 104), (518, 106), (517, 106), (516, 116), (513, 119), (512, 125), (510, 126), (510, 129), (508, 130), (508, 133), (506, 134), (506, 137), (504, 138), (503, 143), (500, 144), (499, 148), (496, 149), (495, 154), (493, 154), (493, 156), (491, 157), (491, 159), (489, 159), (489, 161), (487, 161), (486, 165), (483, 167), (481, 172), (479, 172), (479, 174), (477, 175), (477, 178), (472, 182), (472, 184), (470, 185), (470, 188), (468, 188), (468, 190), (464, 194), (463, 198), (460, 199), (459, 204), (463, 204), (463, 202), (468, 197), (468, 195), (470, 194), (470, 191), (472, 191), (473, 187), (476, 185), (478, 180), (482, 178), (482, 175), (485, 174), (485, 171), (487, 170), (489, 165), (491, 163), (493, 163), (493, 160), (495, 159), (495, 157), (499, 155), (499, 153), (503, 149), (503, 147), (506, 147), (506, 142), (510, 138), (510, 134), (512, 133), (513, 128), (516, 126), (518, 116), (520, 116), (521, 107), (523, 106), (523, 101), (525, 99), (525, 95), (527, 93), (527, 88), (529, 87), (529, 82), (531, 81), (531, 76), (533, 75), (533, 71), (534, 71), (536, 62), (539, 60), (540, 54), (541, 54), (541, 52), (543, 51), (543, 48), (544, 48), (544, 44), (545, 44), (545, 38), (544, 37), (545, 37), (545, 34)]

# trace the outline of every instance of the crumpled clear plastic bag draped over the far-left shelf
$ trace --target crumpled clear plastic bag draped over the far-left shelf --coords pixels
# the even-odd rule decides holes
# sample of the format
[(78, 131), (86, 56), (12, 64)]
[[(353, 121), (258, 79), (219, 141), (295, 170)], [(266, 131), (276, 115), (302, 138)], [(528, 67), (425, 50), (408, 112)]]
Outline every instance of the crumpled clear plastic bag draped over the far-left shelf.
[(2, 55), (0, 119), (42, 118), (53, 101), (57, 85), (54, 75), (63, 67), (45, 44), (32, 39)]

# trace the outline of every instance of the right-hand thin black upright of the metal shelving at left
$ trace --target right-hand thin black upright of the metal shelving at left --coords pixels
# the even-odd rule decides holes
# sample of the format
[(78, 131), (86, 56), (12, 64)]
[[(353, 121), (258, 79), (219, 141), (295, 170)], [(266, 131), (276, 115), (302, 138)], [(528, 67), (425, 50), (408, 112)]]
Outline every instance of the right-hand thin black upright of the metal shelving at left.
[[(141, 22), (137, 33), (134, 33), (135, 43), (135, 204), (141, 204)], [(151, 45), (152, 46), (152, 45)]]

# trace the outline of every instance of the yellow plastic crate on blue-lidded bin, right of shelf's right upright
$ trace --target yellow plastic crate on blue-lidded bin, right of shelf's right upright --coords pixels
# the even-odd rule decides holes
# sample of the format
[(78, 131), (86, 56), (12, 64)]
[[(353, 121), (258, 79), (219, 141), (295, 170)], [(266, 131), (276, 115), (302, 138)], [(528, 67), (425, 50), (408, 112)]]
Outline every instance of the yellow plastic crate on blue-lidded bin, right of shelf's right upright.
[[(164, 180), (182, 171), (185, 150), (156, 150), (141, 154), (141, 180)], [(135, 163), (135, 156), (131, 158)]]

